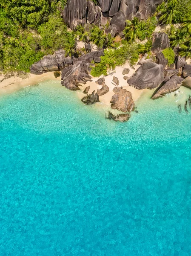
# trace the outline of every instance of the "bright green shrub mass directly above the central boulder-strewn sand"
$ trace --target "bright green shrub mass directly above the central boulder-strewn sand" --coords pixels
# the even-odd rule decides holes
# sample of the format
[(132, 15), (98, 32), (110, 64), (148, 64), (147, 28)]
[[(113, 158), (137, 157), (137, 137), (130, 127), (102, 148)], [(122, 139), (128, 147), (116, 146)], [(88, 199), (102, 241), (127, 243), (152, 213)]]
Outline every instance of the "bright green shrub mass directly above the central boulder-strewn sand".
[(128, 60), (131, 66), (134, 66), (139, 58), (137, 44), (128, 44), (122, 42), (122, 46), (117, 49), (105, 49), (101, 62), (95, 64), (91, 70), (92, 76), (107, 75), (107, 70), (114, 69), (116, 66), (122, 66)]

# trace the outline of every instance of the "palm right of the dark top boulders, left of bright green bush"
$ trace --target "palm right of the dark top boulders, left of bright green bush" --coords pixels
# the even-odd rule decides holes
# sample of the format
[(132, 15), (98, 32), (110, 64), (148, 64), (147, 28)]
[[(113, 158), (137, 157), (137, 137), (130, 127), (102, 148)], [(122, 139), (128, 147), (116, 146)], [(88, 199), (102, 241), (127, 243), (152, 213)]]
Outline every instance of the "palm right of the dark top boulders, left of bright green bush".
[(125, 35), (125, 39), (127, 41), (135, 41), (136, 37), (140, 34), (139, 28), (138, 28), (139, 20), (137, 17), (134, 17), (133, 20), (126, 20), (126, 26), (123, 30), (123, 33)]

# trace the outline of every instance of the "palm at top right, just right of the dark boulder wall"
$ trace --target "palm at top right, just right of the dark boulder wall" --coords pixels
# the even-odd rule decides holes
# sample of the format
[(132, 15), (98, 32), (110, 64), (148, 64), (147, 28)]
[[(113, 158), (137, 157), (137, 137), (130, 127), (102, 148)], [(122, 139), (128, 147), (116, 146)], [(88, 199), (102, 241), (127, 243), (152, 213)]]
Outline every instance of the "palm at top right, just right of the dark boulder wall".
[(177, 11), (175, 10), (176, 0), (168, 0), (158, 8), (157, 16), (160, 15), (159, 21), (162, 24), (171, 24), (174, 20)]

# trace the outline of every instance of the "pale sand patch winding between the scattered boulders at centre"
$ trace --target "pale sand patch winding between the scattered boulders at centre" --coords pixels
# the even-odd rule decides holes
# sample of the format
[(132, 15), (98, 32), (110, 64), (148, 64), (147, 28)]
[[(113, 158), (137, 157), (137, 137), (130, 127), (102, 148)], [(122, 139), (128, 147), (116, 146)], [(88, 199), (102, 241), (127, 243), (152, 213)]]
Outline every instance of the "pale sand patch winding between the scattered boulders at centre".
[[(103, 96), (100, 96), (100, 102), (102, 104), (106, 105), (106, 106), (109, 106), (109, 107), (111, 106), (110, 101), (111, 101), (112, 96), (114, 95), (113, 89), (114, 89), (114, 87), (116, 87), (114, 84), (112, 84), (112, 82), (113, 82), (112, 80), (113, 80), (114, 76), (117, 77), (120, 81), (119, 87), (122, 86), (124, 89), (131, 92), (134, 102), (136, 102), (143, 93), (150, 93), (150, 95), (152, 95), (151, 90), (148, 90), (148, 89), (137, 90), (136, 88), (134, 88), (132, 86), (129, 86), (127, 81), (125, 79), (123, 79), (123, 76), (128, 76), (128, 77), (132, 76), (133, 73), (135, 72), (135, 70), (137, 70), (138, 67), (140, 67), (140, 65), (136, 65), (136, 66), (134, 66), (134, 68), (131, 68), (128, 64), (128, 61), (127, 61), (125, 63), (125, 65), (123, 65), (122, 67), (116, 67), (115, 68), (116, 72), (114, 74), (104, 76), (105, 84), (109, 87), (109, 92), (106, 93)], [(128, 68), (130, 70), (127, 75), (122, 74), (124, 68)], [(111, 72), (112, 72), (112, 70), (110, 71), (110, 73)], [(99, 84), (95, 83), (95, 81), (97, 81), (101, 77), (103, 77), (103, 76), (94, 77), (94, 78), (92, 78), (91, 82), (87, 82), (86, 84), (82, 84), (82, 87), (80, 87), (80, 91), (77, 91), (79, 98), (82, 99), (84, 96), (86, 96), (86, 94), (83, 93), (83, 90), (88, 85), (90, 86), (90, 90), (89, 90), (88, 94), (92, 93), (93, 90), (95, 90), (95, 92), (97, 92), (98, 89), (101, 89), (102, 85), (99, 85)]]

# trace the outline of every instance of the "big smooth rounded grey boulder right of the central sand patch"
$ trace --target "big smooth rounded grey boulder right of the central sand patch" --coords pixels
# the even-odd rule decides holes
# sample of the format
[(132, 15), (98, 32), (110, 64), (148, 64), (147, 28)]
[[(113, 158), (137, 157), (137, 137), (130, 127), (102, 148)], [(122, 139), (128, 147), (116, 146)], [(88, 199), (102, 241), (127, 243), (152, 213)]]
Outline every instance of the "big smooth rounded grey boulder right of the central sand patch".
[(164, 80), (163, 66), (153, 62), (145, 63), (127, 80), (130, 86), (142, 89), (154, 89)]

